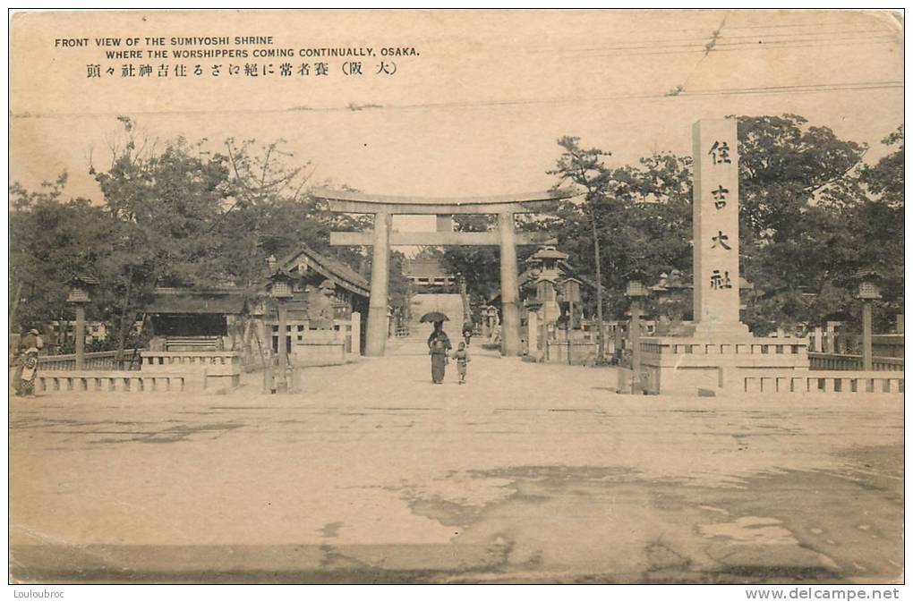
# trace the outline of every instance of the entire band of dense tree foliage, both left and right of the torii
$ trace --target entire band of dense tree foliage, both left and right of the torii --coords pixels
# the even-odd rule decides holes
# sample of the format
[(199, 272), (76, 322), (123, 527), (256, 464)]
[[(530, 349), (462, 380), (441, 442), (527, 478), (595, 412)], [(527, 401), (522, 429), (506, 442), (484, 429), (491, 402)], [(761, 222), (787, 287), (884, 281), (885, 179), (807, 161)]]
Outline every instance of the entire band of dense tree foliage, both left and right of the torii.
[[(68, 277), (94, 271), (101, 285), (89, 317), (118, 331), (142, 311), (156, 285), (250, 285), (266, 259), (300, 242), (353, 268), (364, 250), (329, 246), (331, 230), (371, 227), (370, 217), (330, 213), (308, 195), (310, 167), (284, 143), (226, 140), (224, 151), (173, 140), (156, 150), (121, 118), (110, 167), (95, 172), (102, 202), (65, 198), (66, 174), (37, 191), (10, 187), (10, 316), (14, 329), (70, 319)], [(882, 276), (876, 327), (903, 312), (904, 129), (883, 140), (877, 161), (866, 147), (795, 115), (740, 117), (740, 262), (753, 286), (742, 319), (757, 334), (857, 317), (854, 275)], [(601, 282), (587, 313), (623, 317), (633, 273), (691, 273), (691, 159), (657, 152), (635, 165), (580, 140), (558, 141), (556, 186), (580, 195), (553, 211), (519, 217), (546, 230), (572, 265)], [(495, 227), (490, 216), (460, 216), (465, 231)], [(522, 262), (533, 249), (519, 249)], [(432, 251), (426, 251), (431, 253)], [(436, 252), (438, 253), (438, 252)], [(452, 247), (443, 260), (466, 276), (475, 302), (498, 293), (498, 250)], [(391, 297), (406, 303), (403, 256), (394, 254)], [(594, 296), (591, 296), (594, 297)], [(687, 307), (682, 308), (689, 317)]]

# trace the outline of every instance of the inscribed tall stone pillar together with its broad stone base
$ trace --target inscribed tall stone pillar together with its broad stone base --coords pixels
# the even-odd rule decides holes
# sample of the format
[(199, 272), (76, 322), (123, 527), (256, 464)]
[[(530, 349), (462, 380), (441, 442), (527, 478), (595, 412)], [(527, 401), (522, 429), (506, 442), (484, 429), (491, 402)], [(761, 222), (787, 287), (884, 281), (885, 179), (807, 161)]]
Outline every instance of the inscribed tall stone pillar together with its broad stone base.
[[(792, 338), (792, 353), (763, 353), (783, 337), (753, 337), (739, 319), (739, 140), (735, 119), (702, 119), (694, 142), (694, 320), (690, 337), (643, 337), (639, 383), (650, 393), (702, 389), (745, 392), (746, 370), (778, 378), (809, 368), (807, 342)], [(632, 333), (631, 338), (639, 338)], [(687, 353), (698, 343), (700, 353)], [(683, 345), (684, 343), (684, 345)], [(755, 372), (757, 374), (757, 372)], [(635, 388), (636, 389), (636, 388)]]

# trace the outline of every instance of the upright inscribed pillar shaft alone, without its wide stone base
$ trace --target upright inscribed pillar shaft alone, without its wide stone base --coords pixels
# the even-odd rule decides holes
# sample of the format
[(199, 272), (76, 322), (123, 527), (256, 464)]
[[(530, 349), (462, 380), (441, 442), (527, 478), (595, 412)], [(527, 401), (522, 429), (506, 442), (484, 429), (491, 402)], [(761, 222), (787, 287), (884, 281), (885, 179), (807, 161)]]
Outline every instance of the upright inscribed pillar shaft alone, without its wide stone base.
[(735, 119), (701, 119), (694, 153), (696, 336), (748, 334), (739, 321), (739, 138)]

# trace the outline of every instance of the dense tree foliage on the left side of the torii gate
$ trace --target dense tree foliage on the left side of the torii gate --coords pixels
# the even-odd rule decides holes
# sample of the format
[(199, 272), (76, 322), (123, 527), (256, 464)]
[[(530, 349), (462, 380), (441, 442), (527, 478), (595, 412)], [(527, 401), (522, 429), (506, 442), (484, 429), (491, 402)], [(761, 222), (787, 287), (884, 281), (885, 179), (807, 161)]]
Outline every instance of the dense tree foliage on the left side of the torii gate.
[(296, 165), (283, 141), (229, 139), (224, 152), (210, 153), (178, 139), (157, 150), (131, 119), (121, 124), (110, 167), (91, 171), (102, 202), (65, 201), (66, 174), (37, 192), (10, 187), (14, 329), (72, 319), (66, 282), (81, 271), (101, 282), (89, 319), (114, 327), (112, 345), (122, 348), (155, 286), (252, 285), (267, 275), (270, 255), (302, 242), (366, 266), (362, 250), (330, 247), (329, 233), (370, 228), (370, 217), (331, 213), (310, 197), (309, 165)]

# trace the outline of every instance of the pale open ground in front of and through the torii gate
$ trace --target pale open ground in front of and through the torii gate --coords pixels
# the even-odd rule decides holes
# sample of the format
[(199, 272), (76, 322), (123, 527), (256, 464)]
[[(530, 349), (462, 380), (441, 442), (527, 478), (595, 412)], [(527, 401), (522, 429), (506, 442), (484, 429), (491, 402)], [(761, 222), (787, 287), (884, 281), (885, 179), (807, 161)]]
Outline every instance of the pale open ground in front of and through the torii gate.
[(13, 398), (18, 579), (901, 578), (902, 400), (631, 397), (420, 342), (298, 396)]

